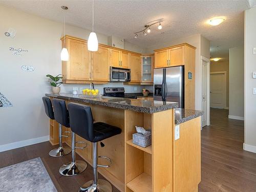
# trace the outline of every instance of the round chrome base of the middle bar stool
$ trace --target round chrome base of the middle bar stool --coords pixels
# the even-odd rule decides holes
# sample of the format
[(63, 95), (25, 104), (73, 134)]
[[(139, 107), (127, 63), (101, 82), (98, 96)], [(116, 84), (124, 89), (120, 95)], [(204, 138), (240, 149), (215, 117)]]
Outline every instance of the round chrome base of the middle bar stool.
[(63, 164), (59, 168), (59, 173), (63, 176), (75, 176), (82, 173), (87, 168), (87, 163), (85, 161), (75, 161)]

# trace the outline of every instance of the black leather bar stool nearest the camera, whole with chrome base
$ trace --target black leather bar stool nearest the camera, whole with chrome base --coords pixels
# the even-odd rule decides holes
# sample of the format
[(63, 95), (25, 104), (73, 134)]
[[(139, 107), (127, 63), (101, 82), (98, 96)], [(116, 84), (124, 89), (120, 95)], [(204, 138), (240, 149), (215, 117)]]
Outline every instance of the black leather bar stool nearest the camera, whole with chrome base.
[(110, 161), (110, 165), (98, 164), (98, 152), (97, 142), (106, 138), (113, 137), (121, 133), (121, 129), (103, 122), (93, 123), (93, 116), (90, 106), (69, 103), (68, 104), (70, 125), (72, 132), (76, 133), (80, 137), (93, 143), (93, 175), (94, 179), (83, 184), (79, 191), (87, 192), (108, 192), (112, 191), (110, 182), (106, 180), (98, 180), (97, 167), (110, 167), (111, 160), (105, 156), (99, 156), (99, 158), (105, 158)]

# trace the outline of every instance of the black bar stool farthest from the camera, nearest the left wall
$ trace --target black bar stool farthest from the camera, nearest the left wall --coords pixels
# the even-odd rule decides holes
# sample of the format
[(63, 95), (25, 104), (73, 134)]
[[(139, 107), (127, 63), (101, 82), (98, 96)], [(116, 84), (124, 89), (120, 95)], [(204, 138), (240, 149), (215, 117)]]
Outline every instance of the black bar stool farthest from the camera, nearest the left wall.
[[(42, 97), (42, 102), (44, 102), (44, 105), (45, 105), (46, 115), (50, 119), (54, 119), (55, 117), (54, 117), (51, 99), (49, 97)], [(59, 147), (54, 148), (52, 151), (49, 152), (49, 155), (51, 157), (61, 157), (61, 156), (67, 155), (71, 152), (70, 147), (62, 146), (62, 137), (61, 136), (62, 136), (62, 127), (61, 127), (61, 124), (59, 123)]]

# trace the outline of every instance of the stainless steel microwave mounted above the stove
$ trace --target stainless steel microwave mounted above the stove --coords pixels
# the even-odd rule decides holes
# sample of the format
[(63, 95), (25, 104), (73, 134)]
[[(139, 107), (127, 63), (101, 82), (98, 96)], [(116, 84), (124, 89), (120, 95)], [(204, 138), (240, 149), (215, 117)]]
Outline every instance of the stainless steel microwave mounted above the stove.
[(131, 81), (131, 69), (110, 67), (110, 82)]

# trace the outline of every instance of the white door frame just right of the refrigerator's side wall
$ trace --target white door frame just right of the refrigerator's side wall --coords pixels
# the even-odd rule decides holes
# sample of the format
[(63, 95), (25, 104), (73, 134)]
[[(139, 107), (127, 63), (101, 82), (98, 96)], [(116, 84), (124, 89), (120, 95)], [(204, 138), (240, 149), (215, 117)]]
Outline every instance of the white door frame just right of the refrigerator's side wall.
[[(200, 110), (202, 111), (202, 65), (203, 65), (203, 61), (207, 63), (207, 88), (206, 88), (206, 92), (207, 92), (207, 102), (206, 102), (206, 125), (209, 126), (210, 125), (210, 59), (206, 58), (204, 56), (201, 55), (201, 61), (200, 61)], [(202, 129), (202, 123), (201, 123), (201, 129)]]

